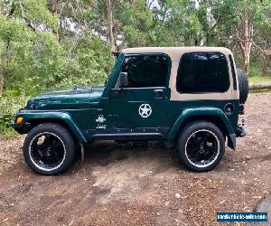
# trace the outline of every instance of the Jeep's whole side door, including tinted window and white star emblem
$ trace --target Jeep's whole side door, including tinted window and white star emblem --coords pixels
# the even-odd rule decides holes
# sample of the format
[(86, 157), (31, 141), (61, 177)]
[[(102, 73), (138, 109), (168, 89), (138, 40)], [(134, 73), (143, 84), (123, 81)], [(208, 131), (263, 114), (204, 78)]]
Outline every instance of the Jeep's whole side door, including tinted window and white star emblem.
[(114, 127), (154, 130), (167, 126), (170, 68), (170, 59), (164, 54), (126, 56), (121, 72), (127, 73), (128, 86), (120, 88), (117, 81), (111, 89)]

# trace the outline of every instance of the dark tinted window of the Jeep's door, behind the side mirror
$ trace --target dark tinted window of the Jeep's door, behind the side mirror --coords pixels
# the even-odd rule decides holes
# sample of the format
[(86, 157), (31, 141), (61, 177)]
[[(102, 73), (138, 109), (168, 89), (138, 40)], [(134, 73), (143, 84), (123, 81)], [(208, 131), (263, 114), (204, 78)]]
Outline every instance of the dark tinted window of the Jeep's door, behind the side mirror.
[(165, 87), (169, 60), (164, 55), (126, 56), (122, 72), (128, 74), (128, 87)]

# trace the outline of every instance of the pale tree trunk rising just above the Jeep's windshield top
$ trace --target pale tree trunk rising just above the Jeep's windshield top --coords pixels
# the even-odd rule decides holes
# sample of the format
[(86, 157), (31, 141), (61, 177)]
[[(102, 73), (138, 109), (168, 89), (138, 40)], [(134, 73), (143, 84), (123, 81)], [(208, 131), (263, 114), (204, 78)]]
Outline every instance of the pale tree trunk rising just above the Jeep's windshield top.
[(116, 52), (116, 39), (114, 35), (114, 0), (106, 0), (107, 4), (107, 39), (111, 52)]

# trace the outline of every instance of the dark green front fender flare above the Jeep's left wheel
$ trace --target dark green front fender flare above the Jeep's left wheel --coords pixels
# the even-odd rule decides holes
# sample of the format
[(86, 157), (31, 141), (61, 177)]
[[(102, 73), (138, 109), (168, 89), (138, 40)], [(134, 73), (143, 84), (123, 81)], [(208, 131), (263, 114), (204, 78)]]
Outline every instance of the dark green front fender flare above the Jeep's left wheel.
[(43, 110), (25, 110), (22, 109), (18, 112), (17, 117), (23, 117), (23, 123), (18, 125), (15, 122), (12, 124), (15, 130), (23, 130), (23, 127), (35, 121), (62, 121), (64, 122), (73, 134), (79, 139), (79, 142), (86, 143), (86, 137), (82, 134), (79, 127), (75, 124), (73, 119), (70, 117), (70, 114), (61, 111), (43, 111)]

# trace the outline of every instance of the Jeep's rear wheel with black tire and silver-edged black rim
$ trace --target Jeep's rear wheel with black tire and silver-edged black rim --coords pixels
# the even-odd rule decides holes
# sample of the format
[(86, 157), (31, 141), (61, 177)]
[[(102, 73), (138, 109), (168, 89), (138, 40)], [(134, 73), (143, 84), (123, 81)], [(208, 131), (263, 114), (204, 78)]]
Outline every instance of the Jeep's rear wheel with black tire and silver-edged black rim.
[(177, 150), (182, 165), (195, 172), (206, 172), (220, 163), (225, 152), (225, 138), (214, 124), (195, 121), (182, 129)]

